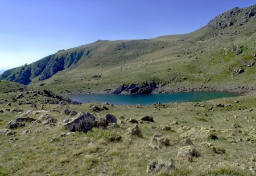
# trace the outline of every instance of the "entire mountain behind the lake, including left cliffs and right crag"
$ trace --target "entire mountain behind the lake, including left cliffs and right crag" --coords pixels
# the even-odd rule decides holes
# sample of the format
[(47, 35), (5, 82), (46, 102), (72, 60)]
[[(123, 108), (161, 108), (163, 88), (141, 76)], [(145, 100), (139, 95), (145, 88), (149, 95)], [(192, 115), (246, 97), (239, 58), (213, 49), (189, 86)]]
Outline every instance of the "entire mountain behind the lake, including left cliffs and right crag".
[(235, 7), (185, 35), (101, 41), (60, 50), (0, 79), (63, 91), (255, 84), (256, 5)]

